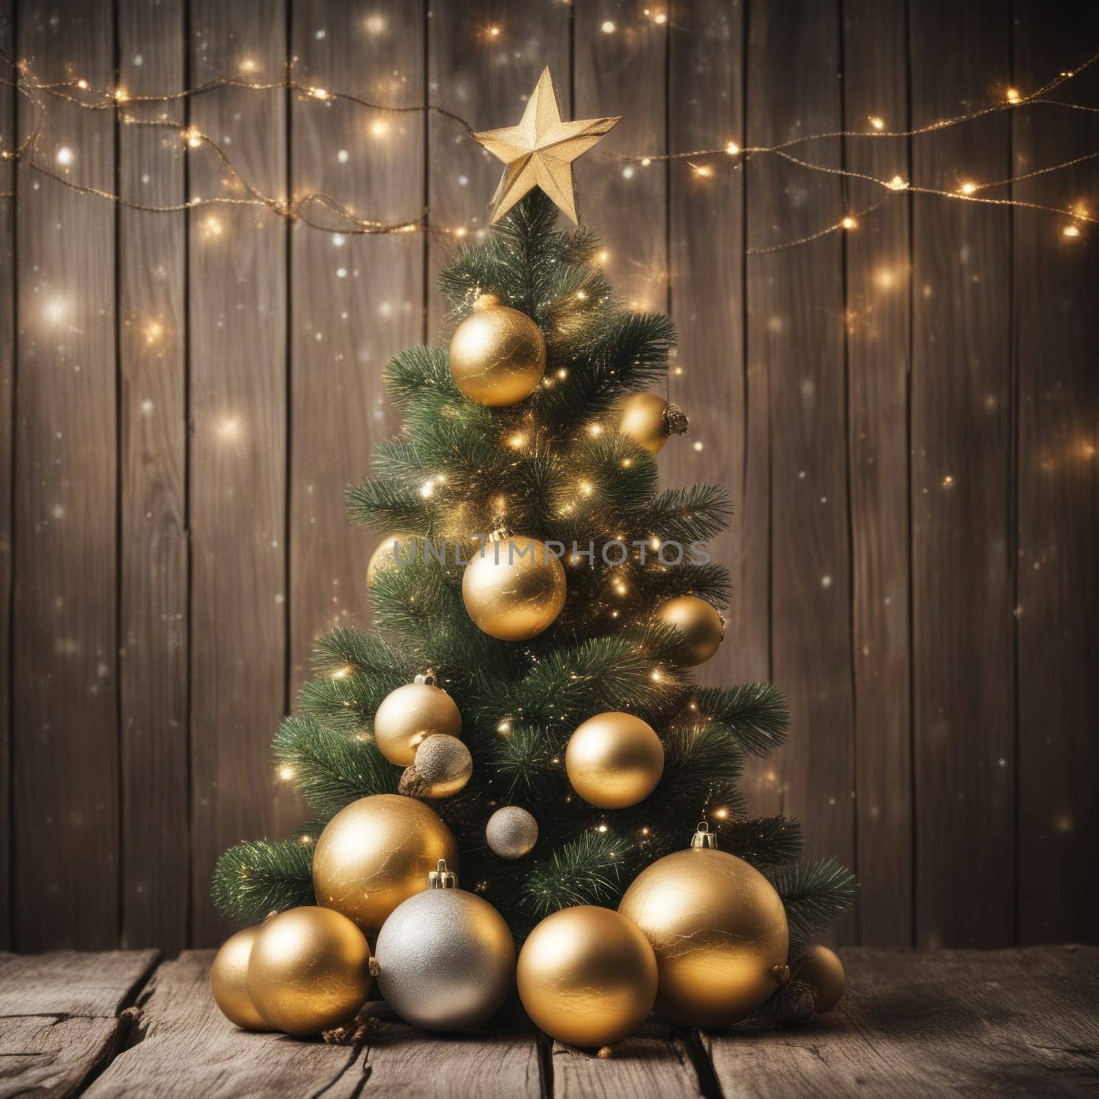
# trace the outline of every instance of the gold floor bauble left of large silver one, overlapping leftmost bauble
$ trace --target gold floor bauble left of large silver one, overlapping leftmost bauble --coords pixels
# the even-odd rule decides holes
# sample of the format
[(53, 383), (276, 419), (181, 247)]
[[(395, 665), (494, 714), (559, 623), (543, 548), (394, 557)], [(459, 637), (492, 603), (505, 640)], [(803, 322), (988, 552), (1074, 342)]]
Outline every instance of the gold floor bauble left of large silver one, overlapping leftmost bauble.
[(291, 908), (256, 934), (248, 996), (276, 1030), (308, 1037), (355, 1018), (370, 991), (369, 963), (366, 937), (346, 917)]

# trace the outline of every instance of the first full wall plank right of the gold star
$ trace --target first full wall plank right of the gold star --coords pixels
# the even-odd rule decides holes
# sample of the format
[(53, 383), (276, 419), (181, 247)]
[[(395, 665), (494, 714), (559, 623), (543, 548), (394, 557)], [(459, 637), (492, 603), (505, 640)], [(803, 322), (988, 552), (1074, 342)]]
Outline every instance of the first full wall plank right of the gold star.
[[(714, 135), (744, 142), (744, 5), (706, 0), (676, 11), (668, 35), (668, 136), (673, 153), (706, 148)], [(691, 162), (696, 163), (696, 162)], [(678, 352), (668, 396), (690, 418), (685, 439), (660, 453), (668, 485), (725, 485), (730, 531), (714, 560), (732, 574), (725, 641), (699, 668), (702, 682), (766, 681), (769, 669), (767, 415), (748, 400), (744, 309), (744, 164), (740, 156), (684, 160), (668, 173), (668, 263)], [(746, 761), (742, 789), (751, 812), (777, 812), (770, 763)]]

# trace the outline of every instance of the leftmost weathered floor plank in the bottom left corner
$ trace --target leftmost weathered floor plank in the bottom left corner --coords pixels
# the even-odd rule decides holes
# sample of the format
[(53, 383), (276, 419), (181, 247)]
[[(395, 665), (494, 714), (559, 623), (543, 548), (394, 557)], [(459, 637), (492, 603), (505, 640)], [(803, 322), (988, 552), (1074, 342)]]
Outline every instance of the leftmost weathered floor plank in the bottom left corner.
[(155, 951), (0, 954), (0, 1097), (69, 1096), (129, 1030)]

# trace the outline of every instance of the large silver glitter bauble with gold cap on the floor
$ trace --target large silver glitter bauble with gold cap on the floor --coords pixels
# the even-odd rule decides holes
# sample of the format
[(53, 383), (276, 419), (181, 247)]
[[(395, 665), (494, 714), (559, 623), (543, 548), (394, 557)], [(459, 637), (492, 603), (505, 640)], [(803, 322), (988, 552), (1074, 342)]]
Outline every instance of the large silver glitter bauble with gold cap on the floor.
[(386, 1002), (424, 1030), (479, 1025), (515, 981), (515, 941), (503, 917), (459, 889), (445, 863), (386, 920), (375, 956)]

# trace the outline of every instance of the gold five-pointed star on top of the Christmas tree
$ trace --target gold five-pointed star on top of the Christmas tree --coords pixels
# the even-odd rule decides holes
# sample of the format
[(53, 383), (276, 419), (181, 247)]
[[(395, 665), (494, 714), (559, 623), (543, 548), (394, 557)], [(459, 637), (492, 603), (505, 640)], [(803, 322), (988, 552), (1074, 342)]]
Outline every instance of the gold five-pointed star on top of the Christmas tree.
[(518, 126), (474, 134), (495, 157), (504, 163), (500, 186), (492, 196), (492, 223), (498, 222), (528, 191), (541, 187), (573, 219), (574, 224), (579, 224), (573, 162), (613, 130), (621, 119), (619, 115), (614, 119), (562, 122), (553, 77), (546, 66), (526, 101), (526, 110)]

